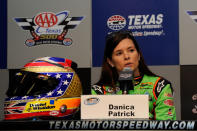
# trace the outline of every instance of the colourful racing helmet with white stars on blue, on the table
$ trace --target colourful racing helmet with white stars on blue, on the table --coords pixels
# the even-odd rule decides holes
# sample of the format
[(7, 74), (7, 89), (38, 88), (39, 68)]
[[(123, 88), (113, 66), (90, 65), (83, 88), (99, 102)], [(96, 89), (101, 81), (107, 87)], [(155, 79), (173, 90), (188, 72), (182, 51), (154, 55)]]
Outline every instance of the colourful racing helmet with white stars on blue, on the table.
[(80, 107), (82, 86), (77, 64), (59, 57), (27, 63), (10, 79), (5, 120), (65, 118)]

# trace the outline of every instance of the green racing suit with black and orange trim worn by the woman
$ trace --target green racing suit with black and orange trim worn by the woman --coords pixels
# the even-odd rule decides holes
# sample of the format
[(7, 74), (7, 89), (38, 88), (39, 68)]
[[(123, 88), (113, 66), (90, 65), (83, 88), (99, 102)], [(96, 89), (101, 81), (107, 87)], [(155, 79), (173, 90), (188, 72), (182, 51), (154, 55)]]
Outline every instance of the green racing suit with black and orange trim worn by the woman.
[[(118, 84), (117, 84), (118, 86)], [(114, 91), (109, 86), (93, 85), (93, 95), (122, 94), (119, 87)], [(143, 75), (134, 79), (134, 89), (128, 94), (149, 95), (150, 120), (176, 120), (176, 111), (173, 103), (173, 90), (169, 81), (157, 76)]]

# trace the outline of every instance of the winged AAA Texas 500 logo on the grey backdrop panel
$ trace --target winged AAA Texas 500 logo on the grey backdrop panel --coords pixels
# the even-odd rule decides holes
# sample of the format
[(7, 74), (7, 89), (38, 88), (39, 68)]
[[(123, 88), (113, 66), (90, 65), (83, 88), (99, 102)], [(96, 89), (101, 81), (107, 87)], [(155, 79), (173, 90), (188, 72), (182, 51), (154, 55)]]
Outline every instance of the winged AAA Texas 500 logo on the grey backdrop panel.
[(69, 46), (71, 38), (66, 38), (69, 29), (76, 28), (84, 16), (69, 17), (69, 11), (59, 13), (41, 12), (33, 18), (15, 18), (17, 24), (30, 31), (33, 38), (27, 39), (29, 47), (41, 44), (58, 44)]

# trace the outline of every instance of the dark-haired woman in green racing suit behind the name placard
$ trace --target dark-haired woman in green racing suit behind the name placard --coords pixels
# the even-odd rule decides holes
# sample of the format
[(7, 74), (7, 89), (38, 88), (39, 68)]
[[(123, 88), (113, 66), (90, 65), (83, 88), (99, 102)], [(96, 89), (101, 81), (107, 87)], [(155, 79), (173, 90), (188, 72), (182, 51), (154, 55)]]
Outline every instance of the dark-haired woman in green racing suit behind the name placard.
[(134, 89), (128, 94), (149, 95), (149, 119), (176, 120), (170, 82), (148, 69), (130, 31), (113, 32), (107, 36), (101, 77), (92, 86), (92, 94), (122, 94), (118, 78), (125, 67), (134, 75)]

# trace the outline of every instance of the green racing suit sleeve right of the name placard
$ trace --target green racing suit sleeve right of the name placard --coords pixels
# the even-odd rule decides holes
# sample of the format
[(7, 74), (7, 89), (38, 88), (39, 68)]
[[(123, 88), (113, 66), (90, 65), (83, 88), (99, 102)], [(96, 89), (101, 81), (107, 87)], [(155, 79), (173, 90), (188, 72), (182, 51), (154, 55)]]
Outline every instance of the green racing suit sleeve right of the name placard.
[(176, 110), (173, 101), (171, 84), (160, 79), (155, 87), (154, 96), (154, 119), (155, 120), (176, 120)]

